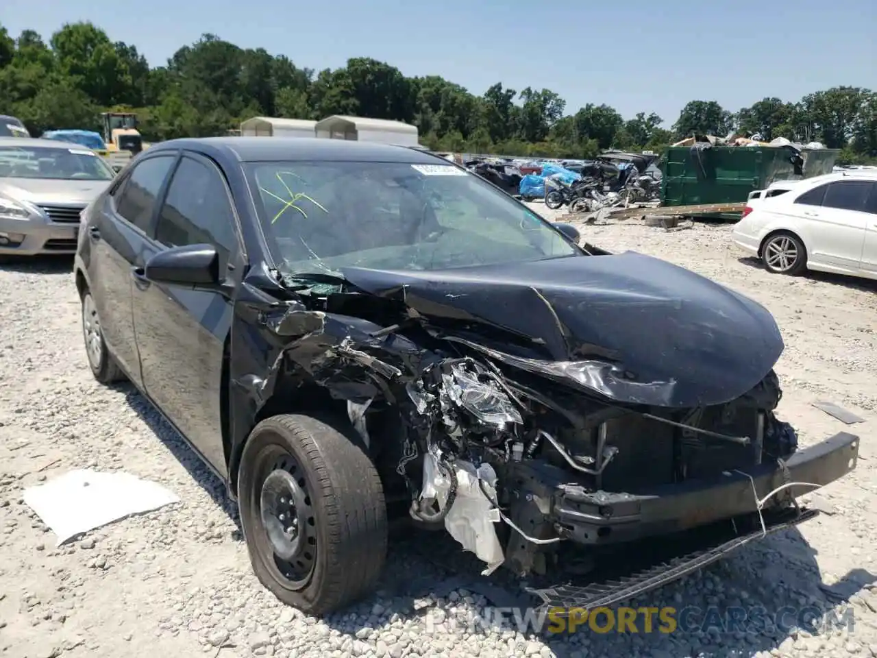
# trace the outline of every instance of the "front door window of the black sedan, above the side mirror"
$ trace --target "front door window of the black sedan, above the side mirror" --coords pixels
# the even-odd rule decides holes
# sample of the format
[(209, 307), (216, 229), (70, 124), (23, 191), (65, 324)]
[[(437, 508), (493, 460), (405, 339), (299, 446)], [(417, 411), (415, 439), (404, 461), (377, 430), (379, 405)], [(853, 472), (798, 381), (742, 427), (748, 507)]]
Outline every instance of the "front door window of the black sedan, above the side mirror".
[(213, 245), (225, 267), (237, 233), (225, 182), (215, 168), (182, 158), (161, 206), (155, 240), (168, 247)]

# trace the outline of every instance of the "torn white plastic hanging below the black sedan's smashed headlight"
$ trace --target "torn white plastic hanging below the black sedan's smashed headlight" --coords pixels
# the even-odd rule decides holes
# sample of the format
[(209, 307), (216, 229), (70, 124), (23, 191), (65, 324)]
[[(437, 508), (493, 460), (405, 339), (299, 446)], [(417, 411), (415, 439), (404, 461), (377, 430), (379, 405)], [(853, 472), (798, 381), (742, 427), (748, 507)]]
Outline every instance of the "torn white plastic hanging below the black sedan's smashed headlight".
[[(465, 460), (446, 463), (444, 468), (453, 468), (457, 481), (456, 496), (445, 515), (445, 528), (464, 550), (473, 552), (479, 560), (487, 563), (488, 567), (481, 571), (481, 575), (489, 576), (505, 561), (503, 547), (493, 526), (501, 518), (487, 497), (496, 499), (496, 471), (488, 463), (481, 464), (476, 470)], [(452, 478), (442, 472), (436, 455), (425, 454), (421, 500), (435, 500), (439, 510), (444, 512), (451, 488)]]

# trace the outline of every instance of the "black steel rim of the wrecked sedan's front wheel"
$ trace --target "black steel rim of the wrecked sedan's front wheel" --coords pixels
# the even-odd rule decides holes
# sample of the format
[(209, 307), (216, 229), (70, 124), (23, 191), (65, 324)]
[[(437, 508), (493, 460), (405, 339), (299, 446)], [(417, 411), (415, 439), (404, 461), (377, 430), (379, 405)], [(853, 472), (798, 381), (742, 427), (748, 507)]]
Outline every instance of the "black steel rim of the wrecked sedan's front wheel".
[(259, 492), (259, 513), (268, 564), (289, 588), (301, 589), (317, 564), (316, 510), (296, 458), (272, 451)]

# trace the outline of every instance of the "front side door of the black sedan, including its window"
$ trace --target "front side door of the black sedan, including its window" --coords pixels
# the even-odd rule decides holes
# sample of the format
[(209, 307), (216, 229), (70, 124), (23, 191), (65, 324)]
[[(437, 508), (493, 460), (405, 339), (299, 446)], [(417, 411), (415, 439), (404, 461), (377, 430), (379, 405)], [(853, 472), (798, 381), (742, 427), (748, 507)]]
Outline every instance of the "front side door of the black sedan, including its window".
[[(160, 206), (154, 240), (147, 243), (138, 265), (142, 268), (163, 249), (204, 243), (217, 247), (226, 282), (239, 283), (243, 250), (225, 175), (209, 159), (185, 153)], [(133, 306), (147, 395), (225, 476), (220, 401), (225, 341), (232, 325), (230, 297), (150, 283), (139, 276), (133, 285)]]

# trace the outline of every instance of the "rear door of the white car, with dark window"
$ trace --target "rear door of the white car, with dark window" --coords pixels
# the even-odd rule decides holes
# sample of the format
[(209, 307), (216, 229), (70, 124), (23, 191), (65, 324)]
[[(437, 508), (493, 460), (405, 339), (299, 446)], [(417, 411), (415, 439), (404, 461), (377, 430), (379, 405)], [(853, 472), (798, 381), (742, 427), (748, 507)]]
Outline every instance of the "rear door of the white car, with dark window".
[[(869, 181), (835, 181), (795, 199), (809, 235), (808, 258), (832, 268), (855, 270), (862, 260)], [(796, 213), (797, 214), (797, 213)]]

